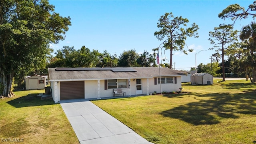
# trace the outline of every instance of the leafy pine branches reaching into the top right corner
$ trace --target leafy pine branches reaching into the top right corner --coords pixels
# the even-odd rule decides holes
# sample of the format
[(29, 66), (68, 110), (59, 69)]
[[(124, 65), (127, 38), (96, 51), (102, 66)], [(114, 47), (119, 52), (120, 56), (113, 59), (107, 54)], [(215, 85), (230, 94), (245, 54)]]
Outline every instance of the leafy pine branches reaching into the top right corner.
[(256, 1), (250, 4), (247, 9), (240, 6), (239, 4), (231, 4), (218, 15), (219, 18), (226, 19), (231, 18), (231, 20), (236, 21), (237, 19), (244, 19), (248, 16), (255, 18), (256, 16)]

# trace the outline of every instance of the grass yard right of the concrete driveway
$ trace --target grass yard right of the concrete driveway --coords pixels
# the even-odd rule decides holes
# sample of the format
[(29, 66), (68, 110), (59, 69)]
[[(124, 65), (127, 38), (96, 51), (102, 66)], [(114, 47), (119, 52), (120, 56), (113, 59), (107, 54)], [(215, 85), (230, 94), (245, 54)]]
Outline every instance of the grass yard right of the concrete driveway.
[(92, 101), (156, 144), (256, 143), (256, 84), (182, 84), (181, 94)]

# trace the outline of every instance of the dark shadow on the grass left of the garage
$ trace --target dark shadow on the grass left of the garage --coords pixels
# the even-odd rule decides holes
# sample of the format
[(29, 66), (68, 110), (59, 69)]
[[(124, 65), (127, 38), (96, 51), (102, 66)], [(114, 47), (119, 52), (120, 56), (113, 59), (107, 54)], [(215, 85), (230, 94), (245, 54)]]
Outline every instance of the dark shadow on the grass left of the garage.
[(43, 106), (43, 105), (52, 105), (55, 104), (52, 98), (47, 100), (41, 100), (39, 94), (28, 94), (27, 96), (22, 96), (14, 100), (10, 100), (7, 103), (15, 108), (22, 108), (28, 106)]

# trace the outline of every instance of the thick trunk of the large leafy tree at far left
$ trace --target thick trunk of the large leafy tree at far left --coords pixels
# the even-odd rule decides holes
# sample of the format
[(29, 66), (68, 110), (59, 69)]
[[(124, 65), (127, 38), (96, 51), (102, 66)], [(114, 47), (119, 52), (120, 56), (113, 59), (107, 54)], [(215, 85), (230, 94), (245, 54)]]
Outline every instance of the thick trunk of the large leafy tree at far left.
[(14, 93), (12, 92), (12, 80), (13, 74), (6, 74), (4, 70), (1, 69), (1, 96), (12, 97)]

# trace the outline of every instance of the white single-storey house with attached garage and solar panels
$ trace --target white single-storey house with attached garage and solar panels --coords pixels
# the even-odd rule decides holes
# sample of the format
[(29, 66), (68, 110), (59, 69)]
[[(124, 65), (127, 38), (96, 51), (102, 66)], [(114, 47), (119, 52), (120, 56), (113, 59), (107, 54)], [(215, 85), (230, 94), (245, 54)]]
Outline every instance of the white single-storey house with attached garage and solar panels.
[[(180, 71), (169, 68), (48, 68), (55, 102), (78, 98), (112, 97), (114, 89), (124, 95), (173, 92), (181, 88)], [(161, 80), (160, 80), (161, 76)], [(161, 85), (160, 85), (161, 81)]]

